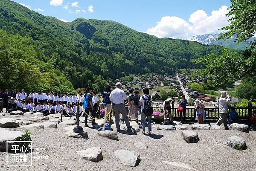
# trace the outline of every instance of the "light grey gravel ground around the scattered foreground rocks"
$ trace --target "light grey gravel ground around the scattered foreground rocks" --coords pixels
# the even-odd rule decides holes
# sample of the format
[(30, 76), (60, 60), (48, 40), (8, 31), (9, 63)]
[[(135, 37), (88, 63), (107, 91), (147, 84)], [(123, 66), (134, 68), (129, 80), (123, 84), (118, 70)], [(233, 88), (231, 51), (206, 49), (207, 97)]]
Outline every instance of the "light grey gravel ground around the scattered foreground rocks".
[[(3, 117), (10, 116), (0, 118)], [(20, 118), (24, 117), (20, 116)], [(67, 126), (70, 125), (58, 125), (57, 129), (30, 129), (33, 148), (45, 148), (45, 151), (39, 151), (38, 155), (49, 158), (33, 159), (32, 166), (7, 167), (6, 152), (0, 152), (0, 171), (191, 171), (168, 165), (163, 161), (183, 162), (198, 171), (253, 171), (256, 168), (255, 131), (244, 133), (235, 130), (195, 130), (200, 141), (187, 144), (181, 138), (182, 130), (157, 130), (157, 124), (152, 125), (154, 134), (152, 136), (145, 136), (141, 131), (137, 135), (123, 131), (118, 134), (119, 141), (96, 136), (97, 131), (92, 128), (84, 128), (88, 132), (89, 139), (67, 137), (64, 134), (66, 130), (63, 129)], [(191, 130), (191, 125), (188, 126)], [(116, 130), (114, 126), (112, 127)], [(24, 131), (25, 128), (9, 128), (8, 130)], [(237, 151), (224, 145), (230, 136), (244, 137), (248, 146), (247, 150)], [(148, 144), (148, 149), (136, 149), (135, 142)], [(76, 154), (76, 151), (95, 146), (102, 149), (103, 160), (101, 162), (89, 162)], [(114, 156), (115, 150), (139, 152), (141, 159), (139, 165), (134, 168), (122, 165)]]

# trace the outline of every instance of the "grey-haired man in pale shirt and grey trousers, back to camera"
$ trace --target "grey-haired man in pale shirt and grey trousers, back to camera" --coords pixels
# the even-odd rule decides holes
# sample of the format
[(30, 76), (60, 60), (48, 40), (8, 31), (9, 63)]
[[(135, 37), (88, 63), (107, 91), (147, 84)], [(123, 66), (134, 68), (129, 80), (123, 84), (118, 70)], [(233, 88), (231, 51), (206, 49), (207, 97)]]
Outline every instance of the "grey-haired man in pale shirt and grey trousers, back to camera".
[(131, 125), (126, 113), (126, 109), (125, 109), (125, 104), (124, 101), (127, 99), (125, 92), (122, 89), (122, 84), (121, 83), (116, 83), (116, 89), (113, 90), (110, 93), (109, 99), (112, 101), (113, 103), (113, 110), (115, 112), (115, 116), (116, 116), (116, 130), (119, 131), (120, 130), (120, 125), (119, 125), (119, 114), (122, 113), (122, 118), (125, 121), (126, 127), (128, 130), (131, 130)]

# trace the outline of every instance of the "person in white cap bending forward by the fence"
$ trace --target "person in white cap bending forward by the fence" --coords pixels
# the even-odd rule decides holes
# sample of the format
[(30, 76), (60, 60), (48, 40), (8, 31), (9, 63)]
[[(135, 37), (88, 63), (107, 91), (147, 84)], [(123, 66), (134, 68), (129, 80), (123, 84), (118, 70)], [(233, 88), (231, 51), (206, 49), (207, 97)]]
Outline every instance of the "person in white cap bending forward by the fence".
[[(163, 102), (163, 116), (164, 116), (163, 124), (164, 125), (172, 124), (172, 113), (171, 113), (171, 110), (173, 109), (174, 102), (175, 102), (174, 97), (166, 99)], [(171, 105), (172, 105), (172, 108), (171, 108)], [(168, 111), (168, 114), (169, 114), (169, 120), (167, 120), (167, 111)]]

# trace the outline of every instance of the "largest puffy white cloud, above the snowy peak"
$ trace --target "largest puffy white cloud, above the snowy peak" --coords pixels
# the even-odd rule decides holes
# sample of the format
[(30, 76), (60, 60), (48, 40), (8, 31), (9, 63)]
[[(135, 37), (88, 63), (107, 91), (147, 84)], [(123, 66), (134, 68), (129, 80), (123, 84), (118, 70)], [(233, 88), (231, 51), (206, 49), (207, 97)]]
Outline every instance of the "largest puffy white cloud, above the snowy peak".
[(207, 15), (203, 10), (197, 10), (189, 17), (189, 22), (180, 17), (165, 16), (162, 17), (157, 25), (148, 28), (146, 33), (155, 35), (158, 38), (183, 38), (187, 39), (192, 35), (202, 35), (212, 32), (218, 32), (218, 29), (227, 26), (229, 12), (227, 6), (221, 6), (218, 11), (212, 11), (211, 15)]

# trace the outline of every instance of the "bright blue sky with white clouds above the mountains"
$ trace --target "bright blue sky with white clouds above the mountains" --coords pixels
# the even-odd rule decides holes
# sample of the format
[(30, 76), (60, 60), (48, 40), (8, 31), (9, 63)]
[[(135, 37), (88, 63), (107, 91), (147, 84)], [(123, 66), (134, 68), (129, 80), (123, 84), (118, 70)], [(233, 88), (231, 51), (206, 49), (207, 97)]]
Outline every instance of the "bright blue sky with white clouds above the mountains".
[[(216, 32), (219, 29), (216, 29), (217, 27), (227, 25), (224, 13), (228, 12), (227, 6), (230, 6), (230, 0), (15, 1), (29, 6), (31, 10), (39, 9), (38, 12), (43, 15), (66, 21), (78, 17), (114, 20), (139, 32), (173, 38), (188, 38), (191, 35)], [(216, 11), (214, 15), (212, 11)], [(205, 28), (198, 28), (203, 24)], [(207, 28), (212, 26), (212, 29)]]

